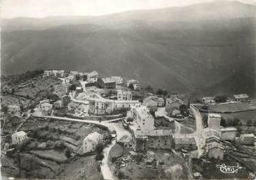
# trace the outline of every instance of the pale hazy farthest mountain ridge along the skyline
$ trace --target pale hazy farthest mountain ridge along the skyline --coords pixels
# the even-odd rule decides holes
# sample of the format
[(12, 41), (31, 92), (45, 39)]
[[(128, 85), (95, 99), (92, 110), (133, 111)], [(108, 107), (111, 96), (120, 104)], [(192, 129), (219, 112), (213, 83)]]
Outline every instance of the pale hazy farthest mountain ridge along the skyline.
[[(255, 5), (238, 1), (214, 1), (186, 7), (167, 7), (157, 10), (133, 10), (105, 16), (53, 16), (46, 18), (13, 18), (1, 21), (2, 31), (44, 30), (63, 24), (129, 24), (144, 22), (195, 22), (256, 17)], [(117, 24), (116, 24), (117, 23)]]

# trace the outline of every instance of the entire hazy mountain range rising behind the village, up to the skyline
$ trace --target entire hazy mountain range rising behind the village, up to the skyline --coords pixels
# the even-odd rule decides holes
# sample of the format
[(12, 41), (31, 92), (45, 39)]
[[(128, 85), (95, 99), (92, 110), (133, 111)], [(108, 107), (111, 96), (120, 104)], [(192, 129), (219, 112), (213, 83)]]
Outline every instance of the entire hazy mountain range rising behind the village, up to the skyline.
[[(217, 1), (1, 24), (1, 72), (96, 70), (195, 95), (256, 95), (256, 6)], [(239, 79), (239, 80), (238, 80)]]

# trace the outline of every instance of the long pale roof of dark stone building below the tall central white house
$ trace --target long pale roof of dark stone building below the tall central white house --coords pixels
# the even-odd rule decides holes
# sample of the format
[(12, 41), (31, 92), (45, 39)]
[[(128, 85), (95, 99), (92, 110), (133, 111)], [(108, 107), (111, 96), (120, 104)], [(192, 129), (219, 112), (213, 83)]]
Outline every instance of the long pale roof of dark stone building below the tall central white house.
[(133, 130), (135, 137), (167, 137), (172, 130)]

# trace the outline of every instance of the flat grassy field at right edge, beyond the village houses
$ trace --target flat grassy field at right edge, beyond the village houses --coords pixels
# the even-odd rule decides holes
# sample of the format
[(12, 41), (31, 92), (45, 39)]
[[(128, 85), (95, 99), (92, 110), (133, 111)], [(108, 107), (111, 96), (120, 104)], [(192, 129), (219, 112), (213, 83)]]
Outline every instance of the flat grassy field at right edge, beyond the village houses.
[(256, 103), (230, 103), (226, 105), (212, 105), (209, 106), (210, 112), (229, 113), (236, 111), (256, 110)]

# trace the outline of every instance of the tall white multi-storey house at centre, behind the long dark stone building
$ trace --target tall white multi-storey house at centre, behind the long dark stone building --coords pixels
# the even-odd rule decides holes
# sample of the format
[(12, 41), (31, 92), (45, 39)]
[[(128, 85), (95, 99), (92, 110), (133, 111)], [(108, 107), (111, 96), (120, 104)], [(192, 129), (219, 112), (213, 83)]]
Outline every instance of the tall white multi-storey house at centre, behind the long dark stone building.
[(155, 120), (146, 106), (136, 105), (131, 107), (131, 118), (133, 118), (141, 130), (154, 130)]

